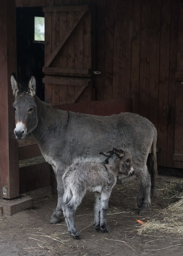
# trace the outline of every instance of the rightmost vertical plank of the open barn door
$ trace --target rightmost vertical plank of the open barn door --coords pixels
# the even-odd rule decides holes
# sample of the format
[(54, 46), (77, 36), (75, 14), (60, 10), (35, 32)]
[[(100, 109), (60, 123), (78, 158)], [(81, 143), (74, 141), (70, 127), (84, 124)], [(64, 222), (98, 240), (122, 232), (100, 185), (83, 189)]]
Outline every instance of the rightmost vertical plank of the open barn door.
[[(91, 13), (87, 12), (83, 17), (83, 67), (91, 69), (92, 65), (92, 49), (91, 49)], [(92, 100), (92, 82), (86, 87), (82, 93), (82, 101)]]

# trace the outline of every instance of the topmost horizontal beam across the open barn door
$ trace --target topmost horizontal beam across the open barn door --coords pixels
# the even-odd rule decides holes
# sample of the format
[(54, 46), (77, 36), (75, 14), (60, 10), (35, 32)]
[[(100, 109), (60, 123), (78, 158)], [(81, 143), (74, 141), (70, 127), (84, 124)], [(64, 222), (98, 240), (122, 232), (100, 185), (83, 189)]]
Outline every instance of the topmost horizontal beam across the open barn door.
[(49, 6), (43, 7), (43, 12), (56, 11), (88, 11), (88, 5)]

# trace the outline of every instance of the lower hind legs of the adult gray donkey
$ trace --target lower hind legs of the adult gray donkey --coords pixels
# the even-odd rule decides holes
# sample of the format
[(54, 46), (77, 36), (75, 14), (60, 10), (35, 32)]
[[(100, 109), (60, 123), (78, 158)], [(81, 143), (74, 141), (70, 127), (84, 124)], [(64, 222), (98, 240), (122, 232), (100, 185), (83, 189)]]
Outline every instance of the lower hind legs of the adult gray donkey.
[[(144, 195), (144, 202), (143, 202), (143, 195)], [(141, 171), (141, 186), (138, 193), (138, 205), (141, 206), (139, 214), (145, 215), (150, 204), (151, 204), (151, 176), (146, 166)]]

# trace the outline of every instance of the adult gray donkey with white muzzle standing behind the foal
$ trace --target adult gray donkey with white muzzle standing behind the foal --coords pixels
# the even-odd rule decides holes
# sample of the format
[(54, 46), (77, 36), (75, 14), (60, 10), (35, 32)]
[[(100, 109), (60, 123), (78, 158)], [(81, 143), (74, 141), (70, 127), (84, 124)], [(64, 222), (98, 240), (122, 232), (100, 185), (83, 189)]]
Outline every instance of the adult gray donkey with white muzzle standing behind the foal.
[[(104, 161), (105, 157), (99, 152), (108, 151), (111, 147), (132, 153), (134, 171), (141, 178), (137, 196), (139, 214), (146, 214), (157, 175), (157, 131), (148, 119), (133, 113), (93, 116), (57, 110), (35, 95), (33, 76), (28, 83), (28, 92), (22, 90), (13, 75), (11, 86), (15, 97), (16, 138), (22, 140), (31, 133), (56, 175), (58, 203), (50, 223), (59, 222), (63, 215), (62, 175), (68, 166), (86, 158)], [(150, 149), (151, 168), (148, 170), (146, 162)]]

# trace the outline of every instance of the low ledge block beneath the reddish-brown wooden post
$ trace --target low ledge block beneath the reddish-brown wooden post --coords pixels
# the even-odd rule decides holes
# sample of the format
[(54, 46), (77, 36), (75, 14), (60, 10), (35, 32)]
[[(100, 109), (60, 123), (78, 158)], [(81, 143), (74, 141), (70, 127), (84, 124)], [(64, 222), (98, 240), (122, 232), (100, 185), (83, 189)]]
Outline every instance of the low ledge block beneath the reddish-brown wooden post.
[(10, 200), (1, 199), (0, 205), (0, 216), (11, 216), (16, 212), (31, 208), (33, 206), (33, 200), (27, 196), (19, 196)]

